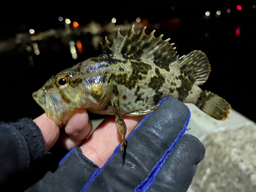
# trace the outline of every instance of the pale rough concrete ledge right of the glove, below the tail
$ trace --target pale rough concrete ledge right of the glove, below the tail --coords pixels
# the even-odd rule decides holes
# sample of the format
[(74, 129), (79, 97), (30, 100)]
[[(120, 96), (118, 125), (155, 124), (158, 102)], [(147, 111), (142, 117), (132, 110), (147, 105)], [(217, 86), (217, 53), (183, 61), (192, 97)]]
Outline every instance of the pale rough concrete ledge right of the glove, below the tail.
[(225, 121), (210, 118), (187, 104), (187, 133), (205, 145), (205, 158), (187, 192), (256, 191), (256, 125), (231, 110)]

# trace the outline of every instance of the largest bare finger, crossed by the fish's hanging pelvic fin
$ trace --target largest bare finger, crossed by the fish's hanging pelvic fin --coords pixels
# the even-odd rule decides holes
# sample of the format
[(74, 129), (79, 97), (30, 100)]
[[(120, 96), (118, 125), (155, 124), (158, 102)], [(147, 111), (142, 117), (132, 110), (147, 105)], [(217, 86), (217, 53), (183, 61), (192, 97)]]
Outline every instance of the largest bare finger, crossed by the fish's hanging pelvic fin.
[[(139, 124), (144, 116), (124, 116), (127, 137)], [(80, 146), (82, 153), (99, 167), (111, 157), (115, 148), (121, 143), (122, 137), (116, 128), (115, 117), (106, 118), (94, 133)]]

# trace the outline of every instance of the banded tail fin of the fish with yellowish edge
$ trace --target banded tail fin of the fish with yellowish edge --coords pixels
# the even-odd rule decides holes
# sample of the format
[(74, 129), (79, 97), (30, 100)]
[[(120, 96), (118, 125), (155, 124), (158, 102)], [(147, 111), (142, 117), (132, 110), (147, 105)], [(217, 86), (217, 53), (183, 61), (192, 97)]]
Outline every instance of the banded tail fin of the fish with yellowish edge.
[(220, 96), (209, 91), (202, 91), (196, 103), (204, 113), (217, 120), (225, 120), (231, 110), (230, 104)]

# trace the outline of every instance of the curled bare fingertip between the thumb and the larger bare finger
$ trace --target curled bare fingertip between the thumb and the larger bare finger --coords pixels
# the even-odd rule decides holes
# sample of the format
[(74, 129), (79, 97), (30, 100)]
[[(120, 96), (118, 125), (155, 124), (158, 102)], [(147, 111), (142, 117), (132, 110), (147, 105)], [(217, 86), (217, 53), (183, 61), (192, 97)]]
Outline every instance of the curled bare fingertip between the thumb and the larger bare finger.
[(83, 109), (76, 109), (67, 125), (61, 130), (59, 142), (67, 150), (78, 146), (86, 139), (92, 131), (92, 121), (88, 113)]

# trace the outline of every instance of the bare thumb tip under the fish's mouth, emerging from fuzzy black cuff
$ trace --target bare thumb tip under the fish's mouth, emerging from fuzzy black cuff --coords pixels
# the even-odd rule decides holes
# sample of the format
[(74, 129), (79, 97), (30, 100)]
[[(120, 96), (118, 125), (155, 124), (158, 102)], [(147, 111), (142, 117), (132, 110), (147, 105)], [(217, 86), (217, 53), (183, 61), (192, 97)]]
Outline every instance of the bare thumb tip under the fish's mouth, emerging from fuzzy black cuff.
[(53, 120), (49, 119), (45, 113), (35, 118), (33, 121), (41, 130), (42, 137), (45, 140), (45, 150), (48, 152), (59, 137), (59, 127)]

